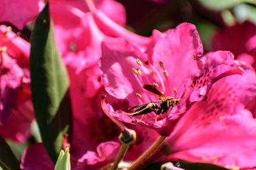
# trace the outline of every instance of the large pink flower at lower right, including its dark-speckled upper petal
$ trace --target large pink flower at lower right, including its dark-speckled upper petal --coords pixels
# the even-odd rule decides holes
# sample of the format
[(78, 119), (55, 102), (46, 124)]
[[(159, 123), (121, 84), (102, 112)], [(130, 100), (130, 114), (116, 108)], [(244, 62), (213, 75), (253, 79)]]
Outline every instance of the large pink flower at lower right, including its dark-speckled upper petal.
[(244, 109), (256, 95), (252, 67), (239, 62), (243, 76), (216, 82), (207, 101), (195, 103), (177, 123), (167, 141), (170, 159), (211, 162), (225, 167), (256, 167), (256, 121)]

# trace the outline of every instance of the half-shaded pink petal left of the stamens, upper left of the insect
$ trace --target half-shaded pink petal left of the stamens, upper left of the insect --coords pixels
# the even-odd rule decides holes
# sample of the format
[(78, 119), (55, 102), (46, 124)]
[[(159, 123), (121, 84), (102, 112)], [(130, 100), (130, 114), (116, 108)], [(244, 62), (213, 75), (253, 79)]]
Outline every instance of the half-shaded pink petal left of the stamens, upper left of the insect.
[[(138, 67), (136, 59), (145, 62), (147, 58), (136, 46), (122, 38), (104, 38), (100, 69), (106, 91), (118, 99), (127, 99), (138, 104), (136, 93), (143, 95), (142, 85), (136, 80), (132, 67)], [(144, 70), (141, 70), (142, 72)], [(149, 74), (145, 70), (145, 74)]]

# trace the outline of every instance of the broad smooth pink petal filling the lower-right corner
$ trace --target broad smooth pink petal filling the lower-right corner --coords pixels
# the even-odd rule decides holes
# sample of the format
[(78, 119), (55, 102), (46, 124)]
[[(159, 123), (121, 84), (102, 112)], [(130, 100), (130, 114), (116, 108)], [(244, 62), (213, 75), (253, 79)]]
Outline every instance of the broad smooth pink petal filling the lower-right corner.
[(214, 122), (198, 123), (189, 124), (191, 126), (182, 137), (171, 142), (172, 159), (211, 162), (226, 167), (256, 166), (253, 156), (256, 154), (256, 122), (249, 111), (241, 110), (216, 117)]

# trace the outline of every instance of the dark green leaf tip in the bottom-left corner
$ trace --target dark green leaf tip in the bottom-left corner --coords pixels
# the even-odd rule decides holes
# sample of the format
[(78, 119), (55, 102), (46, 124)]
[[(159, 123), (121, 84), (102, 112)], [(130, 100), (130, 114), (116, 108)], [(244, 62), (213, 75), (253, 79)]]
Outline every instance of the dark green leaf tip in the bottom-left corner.
[(0, 136), (0, 166), (3, 169), (20, 169), (18, 160), (2, 136)]

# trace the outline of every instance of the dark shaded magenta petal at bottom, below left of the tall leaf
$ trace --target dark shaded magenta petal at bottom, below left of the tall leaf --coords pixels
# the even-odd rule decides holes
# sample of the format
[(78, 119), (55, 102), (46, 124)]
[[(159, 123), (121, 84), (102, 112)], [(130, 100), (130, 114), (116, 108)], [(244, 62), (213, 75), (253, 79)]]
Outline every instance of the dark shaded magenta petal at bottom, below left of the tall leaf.
[(31, 144), (22, 155), (20, 168), (25, 170), (52, 170), (54, 164), (42, 143)]

